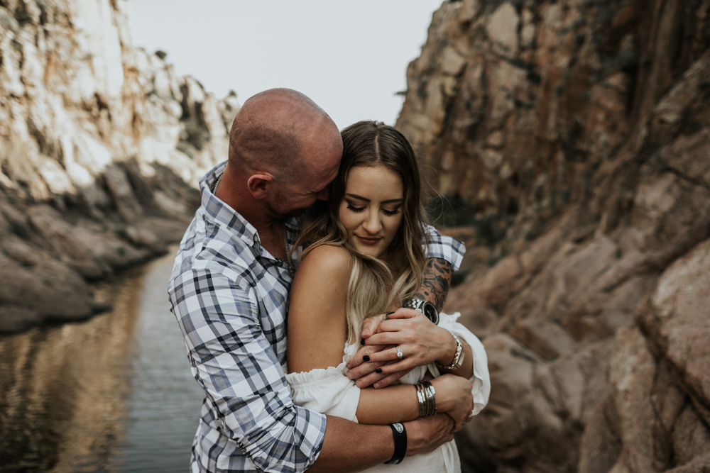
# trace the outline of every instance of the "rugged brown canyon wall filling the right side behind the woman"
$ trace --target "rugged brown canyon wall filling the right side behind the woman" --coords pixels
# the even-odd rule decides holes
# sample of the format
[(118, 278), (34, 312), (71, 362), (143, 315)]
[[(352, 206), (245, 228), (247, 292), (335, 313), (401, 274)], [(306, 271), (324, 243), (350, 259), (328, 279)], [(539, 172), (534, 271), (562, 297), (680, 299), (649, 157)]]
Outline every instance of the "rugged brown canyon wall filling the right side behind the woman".
[(398, 127), (486, 255), (464, 471), (710, 471), (710, 1), (445, 1)]

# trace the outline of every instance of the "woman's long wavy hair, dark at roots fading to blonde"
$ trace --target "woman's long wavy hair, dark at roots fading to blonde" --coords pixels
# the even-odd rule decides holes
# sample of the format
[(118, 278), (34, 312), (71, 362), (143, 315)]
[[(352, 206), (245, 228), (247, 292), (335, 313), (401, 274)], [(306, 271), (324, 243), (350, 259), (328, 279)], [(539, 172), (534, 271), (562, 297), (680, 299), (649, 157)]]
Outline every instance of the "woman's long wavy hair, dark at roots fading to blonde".
[[(353, 268), (346, 296), (347, 343), (360, 338), (365, 318), (385, 313), (397, 301), (413, 297), (425, 267), (425, 194), (414, 150), (391, 126), (361, 121), (342, 130), (343, 157), (328, 202), (318, 201), (302, 220), (294, 247), (305, 248), (300, 258), (320, 245), (339, 245), (350, 253)], [(387, 261), (364, 255), (348, 243), (339, 218), (349, 172), (359, 166), (386, 166), (402, 178), (402, 224), (387, 251)]]

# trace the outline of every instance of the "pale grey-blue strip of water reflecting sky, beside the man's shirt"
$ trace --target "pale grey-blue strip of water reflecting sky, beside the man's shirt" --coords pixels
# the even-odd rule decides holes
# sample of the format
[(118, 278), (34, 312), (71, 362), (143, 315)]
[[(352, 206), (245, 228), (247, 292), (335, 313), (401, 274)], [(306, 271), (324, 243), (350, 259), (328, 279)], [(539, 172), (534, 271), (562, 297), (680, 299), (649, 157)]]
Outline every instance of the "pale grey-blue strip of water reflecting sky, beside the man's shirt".
[(186, 472), (202, 406), (182, 333), (170, 313), (168, 277), (174, 255), (146, 272), (133, 352), (125, 472)]

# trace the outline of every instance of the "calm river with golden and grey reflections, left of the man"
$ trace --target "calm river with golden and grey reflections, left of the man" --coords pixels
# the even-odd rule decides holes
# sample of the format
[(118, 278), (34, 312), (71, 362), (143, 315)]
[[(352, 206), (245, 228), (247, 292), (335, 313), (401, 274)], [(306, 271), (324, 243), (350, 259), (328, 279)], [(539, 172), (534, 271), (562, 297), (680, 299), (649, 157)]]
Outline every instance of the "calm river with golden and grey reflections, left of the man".
[(173, 254), (96, 287), (114, 310), (0, 338), (0, 472), (185, 472), (202, 390), (166, 286)]

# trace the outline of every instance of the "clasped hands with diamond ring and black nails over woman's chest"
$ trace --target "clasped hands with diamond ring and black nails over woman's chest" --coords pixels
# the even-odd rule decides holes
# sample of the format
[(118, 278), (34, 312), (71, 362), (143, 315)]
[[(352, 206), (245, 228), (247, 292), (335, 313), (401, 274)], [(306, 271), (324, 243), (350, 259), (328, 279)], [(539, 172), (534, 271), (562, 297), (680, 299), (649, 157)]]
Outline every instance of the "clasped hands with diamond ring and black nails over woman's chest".
[[(450, 354), (456, 350), (455, 340), (420, 311), (400, 308), (387, 314), (387, 320), (383, 318), (378, 316), (368, 323), (363, 330), (366, 345), (348, 365), (348, 377), (358, 379), (359, 388), (373, 383), (374, 387), (381, 388), (414, 367), (435, 361), (450, 362)], [(397, 356), (397, 345), (403, 354), (401, 359)]]

